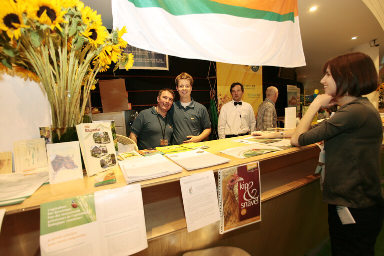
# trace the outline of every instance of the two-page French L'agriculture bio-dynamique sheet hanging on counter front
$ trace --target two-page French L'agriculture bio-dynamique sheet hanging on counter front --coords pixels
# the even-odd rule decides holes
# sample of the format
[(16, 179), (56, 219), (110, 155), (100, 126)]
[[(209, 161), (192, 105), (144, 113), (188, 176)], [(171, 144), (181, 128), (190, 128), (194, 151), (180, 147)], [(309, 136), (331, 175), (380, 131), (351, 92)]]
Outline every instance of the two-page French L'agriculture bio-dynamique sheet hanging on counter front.
[[(130, 255), (148, 247), (140, 184), (42, 203), (41, 255)], [(92, 253), (90, 253), (92, 252)]]

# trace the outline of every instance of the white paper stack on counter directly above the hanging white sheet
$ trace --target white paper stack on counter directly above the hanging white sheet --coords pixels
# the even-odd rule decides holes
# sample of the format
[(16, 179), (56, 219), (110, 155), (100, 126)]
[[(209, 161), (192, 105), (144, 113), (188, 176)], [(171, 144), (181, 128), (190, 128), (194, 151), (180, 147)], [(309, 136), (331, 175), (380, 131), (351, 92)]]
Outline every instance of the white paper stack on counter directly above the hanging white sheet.
[(188, 171), (230, 161), (228, 158), (214, 155), (202, 149), (194, 149), (177, 154), (166, 154), (166, 156)]

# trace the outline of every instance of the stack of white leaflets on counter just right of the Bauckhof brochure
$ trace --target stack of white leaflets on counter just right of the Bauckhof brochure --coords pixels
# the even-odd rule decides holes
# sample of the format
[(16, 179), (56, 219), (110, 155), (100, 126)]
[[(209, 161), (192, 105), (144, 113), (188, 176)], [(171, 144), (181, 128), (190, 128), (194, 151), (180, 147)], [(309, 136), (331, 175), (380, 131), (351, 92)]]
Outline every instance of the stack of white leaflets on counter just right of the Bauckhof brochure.
[(183, 169), (160, 154), (119, 161), (127, 184), (181, 172)]

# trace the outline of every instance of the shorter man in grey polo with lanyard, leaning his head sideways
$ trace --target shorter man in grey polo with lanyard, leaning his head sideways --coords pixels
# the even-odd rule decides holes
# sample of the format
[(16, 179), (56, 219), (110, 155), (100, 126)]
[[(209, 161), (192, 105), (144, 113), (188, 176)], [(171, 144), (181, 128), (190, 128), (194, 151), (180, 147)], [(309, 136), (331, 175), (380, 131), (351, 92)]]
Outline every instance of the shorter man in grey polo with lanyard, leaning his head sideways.
[(175, 93), (171, 89), (162, 89), (157, 96), (157, 105), (141, 111), (135, 118), (129, 137), (139, 149), (171, 145), (173, 121), (168, 110), (174, 99)]

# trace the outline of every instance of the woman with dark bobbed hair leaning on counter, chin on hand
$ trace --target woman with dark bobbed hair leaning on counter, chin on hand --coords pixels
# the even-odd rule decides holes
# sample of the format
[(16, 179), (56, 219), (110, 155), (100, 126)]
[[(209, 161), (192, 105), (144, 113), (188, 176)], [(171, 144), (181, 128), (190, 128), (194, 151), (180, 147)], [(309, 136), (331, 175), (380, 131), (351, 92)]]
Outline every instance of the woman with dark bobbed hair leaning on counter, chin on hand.
[[(325, 94), (318, 95), (293, 130), (260, 138), (291, 137), (304, 146), (324, 141), (323, 201), (328, 203), (332, 255), (374, 255), (384, 216), (380, 185), (382, 123), (378, 111), (362, 95), (378, 86), (369, 56), (349, 53), (324, 64)], [(320, 108), (340, 108), (328, 120), (311, 126)]]

